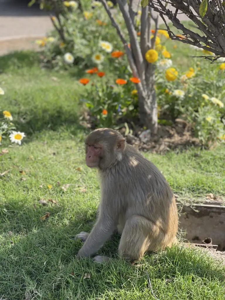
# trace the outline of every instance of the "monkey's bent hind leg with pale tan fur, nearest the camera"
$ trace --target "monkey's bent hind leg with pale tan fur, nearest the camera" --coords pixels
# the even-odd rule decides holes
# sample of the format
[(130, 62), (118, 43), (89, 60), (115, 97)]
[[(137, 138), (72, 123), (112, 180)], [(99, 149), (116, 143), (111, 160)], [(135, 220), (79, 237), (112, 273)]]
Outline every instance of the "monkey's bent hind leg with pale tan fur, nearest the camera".
[(152, 243), (160, 244), (164, 237), (157, 225), (145, 217), (134, 215), (125, 223), (119, 243), (119, 255), (130, 261), (139, 260)]

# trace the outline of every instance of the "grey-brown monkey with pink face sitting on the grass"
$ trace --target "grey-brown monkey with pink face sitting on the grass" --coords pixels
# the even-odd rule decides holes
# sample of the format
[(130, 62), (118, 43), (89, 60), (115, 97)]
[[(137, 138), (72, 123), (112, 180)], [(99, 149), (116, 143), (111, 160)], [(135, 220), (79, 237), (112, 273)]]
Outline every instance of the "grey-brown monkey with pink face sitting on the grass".
[(84, 241), (76, 257), (95, 254), (115, 230), (121, 235), (119, 256), (131, 262), (176, 242), (175, 197), (157, 167), (110, 128), (92, 131), (85, 145), (87, 166), (99, 170), (101, 200), (90, 234), (76, 235)]

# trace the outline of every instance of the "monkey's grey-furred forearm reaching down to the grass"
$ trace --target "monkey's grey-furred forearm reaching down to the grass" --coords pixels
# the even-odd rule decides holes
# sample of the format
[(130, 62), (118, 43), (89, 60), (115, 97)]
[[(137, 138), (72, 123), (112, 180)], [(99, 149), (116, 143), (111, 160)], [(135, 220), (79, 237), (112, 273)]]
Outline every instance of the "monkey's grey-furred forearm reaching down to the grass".
[[(108, 210), (109, 208), (103, 209)], [(116, 229), (114, 217), (115, 216), (112, 216), (112, 213), (107, 213), (107, 211), (104, 211), (104, 214), (100, 212), (97, 223), (91, 230), (88, 238), (83, 244), (83, 247), (77, 253), (76, 258), (79, 259), (82, 256), (91, 256), (102, 247)]]

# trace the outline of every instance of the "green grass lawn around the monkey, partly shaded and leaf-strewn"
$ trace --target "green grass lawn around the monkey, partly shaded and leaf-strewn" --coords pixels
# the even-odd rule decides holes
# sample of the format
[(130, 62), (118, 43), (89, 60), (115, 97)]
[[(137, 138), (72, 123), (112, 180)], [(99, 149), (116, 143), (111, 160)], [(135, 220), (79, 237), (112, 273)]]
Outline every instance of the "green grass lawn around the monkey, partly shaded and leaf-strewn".
[[(81, 247), (74, 236), (91, 229), (100, 197), (97, 172), (85, 166), (79, 72), (41, 69), (34, 52), (1, 57), (0, 68), (0, 109), (27, 135), (22, 146), (5, 144), (8, 153), (0, 156), (0, 173), (8, 171), (0, 176), (0, 298), (152, 300), (148, 271), (159, 299), (224, 299), (224, 267), (194, 250), (146, 254), (136, 266), (73, 261)], [(144, 155), (180, 199), (225, 196), (224, 146)], [(115, 258), (118, 241), (112, 238), (98, 253)]]

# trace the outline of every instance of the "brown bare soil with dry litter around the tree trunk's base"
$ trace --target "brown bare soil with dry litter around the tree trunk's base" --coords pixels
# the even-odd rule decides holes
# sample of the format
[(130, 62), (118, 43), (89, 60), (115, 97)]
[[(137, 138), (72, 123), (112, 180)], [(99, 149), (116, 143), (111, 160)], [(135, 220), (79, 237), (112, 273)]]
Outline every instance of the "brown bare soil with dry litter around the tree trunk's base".
[[(84, 111), (80, 118), (80, 125), (95, 129), (93, 121), (94, 118), (89, 116), (87, 111)], [(170, 150), (182, 151), (190, 146), (201, 146), (199, 139), (194, 136), (193, 128), (183, 119), (176, 119), (171, 126), (159, 124), (157, 134), (150, 133), (149, 139), (143, 139), (143, 134), (148, 135), (148, 133), (136, 124), (138, 121), (134, 121), (132, 124), (128, 122), (128, 127), (131, 129), (129, 133), (126, 132), (125, 127), (119, 131), (126, 138), (127, 143), (139, 151), (164, 154)]]

